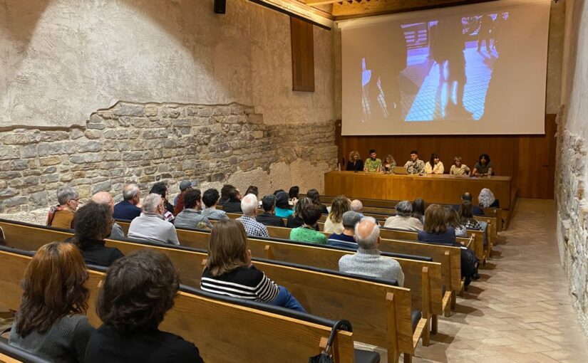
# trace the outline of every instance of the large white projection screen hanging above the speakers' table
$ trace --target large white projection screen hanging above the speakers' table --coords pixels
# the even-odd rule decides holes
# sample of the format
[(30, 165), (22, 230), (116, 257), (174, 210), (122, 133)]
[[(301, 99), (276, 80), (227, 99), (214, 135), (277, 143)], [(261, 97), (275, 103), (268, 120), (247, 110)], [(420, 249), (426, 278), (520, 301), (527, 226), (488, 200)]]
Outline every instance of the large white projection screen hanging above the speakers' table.
[(545, 133), (550, 1), (342, 21), (343, 135)]

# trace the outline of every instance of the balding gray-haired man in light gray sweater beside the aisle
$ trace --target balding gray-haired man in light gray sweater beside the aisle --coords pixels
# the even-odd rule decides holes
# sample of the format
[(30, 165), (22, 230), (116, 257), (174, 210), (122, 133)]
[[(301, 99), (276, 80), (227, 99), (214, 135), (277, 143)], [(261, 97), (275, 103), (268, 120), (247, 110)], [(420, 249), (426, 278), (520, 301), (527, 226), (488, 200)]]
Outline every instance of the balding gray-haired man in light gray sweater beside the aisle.
[(380, 226), (376, 219), (361, 219), (355, 227), (355, 240), (359, 245), (357, 252), (339, 259), (339, 271), (383, 280), (396, 280), (398, 286), (404, 284), (404, 273), (400, 263), (393, 258), (380, 256)]

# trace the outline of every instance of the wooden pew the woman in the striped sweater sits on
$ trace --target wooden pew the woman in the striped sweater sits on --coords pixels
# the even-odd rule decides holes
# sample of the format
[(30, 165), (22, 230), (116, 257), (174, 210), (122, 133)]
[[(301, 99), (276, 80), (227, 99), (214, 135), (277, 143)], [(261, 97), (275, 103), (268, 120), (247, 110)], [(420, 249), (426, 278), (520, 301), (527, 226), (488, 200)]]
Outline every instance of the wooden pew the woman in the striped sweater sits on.
[[(18, 310), (20, 282), (31, 257), (21, 251), (0, 247), (0, 305)], [(91, 291), (88, 318), (101, 324), (95, 302), (103, 272), (89, 270)], [(233, 302), (210, 294), (180, 292), (175, 305), (165, 315), (161, 330), (194, 342), (205, 362), (306, 362), (319, 354), (321, 342), (329, 337), (332, 322), (308, 314), (280, 315), (283, 309), (262, 304)], [(262, 310), (263, 309), (263, 310)], [(231, 339), (220, 339), (230, 336)], [(268, 349), (272, 347), (272, 349)], [(353, 335), (339, 331), (335, 344), (336, 362), (354, 362)]]

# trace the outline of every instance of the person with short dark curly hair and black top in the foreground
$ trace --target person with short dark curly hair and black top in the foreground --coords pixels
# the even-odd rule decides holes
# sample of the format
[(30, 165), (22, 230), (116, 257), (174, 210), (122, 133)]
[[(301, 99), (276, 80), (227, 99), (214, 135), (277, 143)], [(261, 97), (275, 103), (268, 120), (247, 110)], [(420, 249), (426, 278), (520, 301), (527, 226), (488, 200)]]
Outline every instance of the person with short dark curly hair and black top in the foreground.
[(116, 261), (98, 293), (103, 325), (90, 336), (84, 362), (202, 363), (194, 344), (158, 329), (179, 288), (163, 253), (140, 250)]

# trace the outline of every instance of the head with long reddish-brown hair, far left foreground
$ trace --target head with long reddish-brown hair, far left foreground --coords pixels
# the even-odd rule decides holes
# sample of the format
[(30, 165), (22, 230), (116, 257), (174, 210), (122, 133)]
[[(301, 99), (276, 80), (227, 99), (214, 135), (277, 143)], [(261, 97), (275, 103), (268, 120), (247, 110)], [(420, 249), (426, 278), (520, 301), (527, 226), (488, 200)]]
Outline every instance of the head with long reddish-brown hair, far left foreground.
[(41, 246), (26, 268), (21, 283), (21, 307), (16, 332), (26, 337), (43, 334), (61, 317), (86, 314), (90, 293), (84, 285), (88, 271), (73, 243), (51, 242)]

